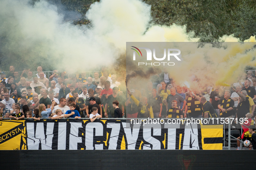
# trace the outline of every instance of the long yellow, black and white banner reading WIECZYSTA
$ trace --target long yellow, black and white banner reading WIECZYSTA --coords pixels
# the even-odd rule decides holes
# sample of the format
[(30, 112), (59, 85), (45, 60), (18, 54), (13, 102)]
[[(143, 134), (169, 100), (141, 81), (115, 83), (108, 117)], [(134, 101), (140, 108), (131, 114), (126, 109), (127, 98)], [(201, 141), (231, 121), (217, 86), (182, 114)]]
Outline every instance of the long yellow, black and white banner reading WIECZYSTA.
[(222, 150), (222, 128), (127, 120), (0, 120), (0, 150)]

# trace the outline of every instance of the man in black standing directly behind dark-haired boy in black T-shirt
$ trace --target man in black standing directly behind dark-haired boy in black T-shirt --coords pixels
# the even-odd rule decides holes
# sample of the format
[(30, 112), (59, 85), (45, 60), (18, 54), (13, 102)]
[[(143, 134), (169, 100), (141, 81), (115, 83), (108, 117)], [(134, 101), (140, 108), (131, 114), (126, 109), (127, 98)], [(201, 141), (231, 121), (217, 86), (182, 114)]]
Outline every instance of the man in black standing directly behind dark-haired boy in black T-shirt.
[[(109, 95), (107, 98), (107, 102), (105, 104), (105, 116), (108, 116), (109, 118), (114, 117), (115, 108), (111, 104), (113, 104), (113, 101), (118, 101), (119, 105), (121, 105), (122, 113), (124, 113), (124, 107), (122, 104), (122, 98), (118, 95), (118, 88), (113, 88), (113, 94)], [(109, 106), (109, 107), (108, 107)]]

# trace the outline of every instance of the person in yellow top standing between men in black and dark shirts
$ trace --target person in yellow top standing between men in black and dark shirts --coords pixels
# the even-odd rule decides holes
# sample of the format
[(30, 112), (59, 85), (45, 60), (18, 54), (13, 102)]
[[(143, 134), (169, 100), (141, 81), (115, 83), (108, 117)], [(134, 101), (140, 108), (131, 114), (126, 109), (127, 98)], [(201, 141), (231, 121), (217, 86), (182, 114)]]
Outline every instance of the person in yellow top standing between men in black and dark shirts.
[[(166, 117), (166, 99), (169, 94), (171, 94), (170, 90), (167, 89), (167, 85), (165, 81), (160, 83), (160, 87), (158, 89), (157, 94), (162, 98), (162, 113), (161, 117)], [(160, 115), (159, 115), (160, 116)]]

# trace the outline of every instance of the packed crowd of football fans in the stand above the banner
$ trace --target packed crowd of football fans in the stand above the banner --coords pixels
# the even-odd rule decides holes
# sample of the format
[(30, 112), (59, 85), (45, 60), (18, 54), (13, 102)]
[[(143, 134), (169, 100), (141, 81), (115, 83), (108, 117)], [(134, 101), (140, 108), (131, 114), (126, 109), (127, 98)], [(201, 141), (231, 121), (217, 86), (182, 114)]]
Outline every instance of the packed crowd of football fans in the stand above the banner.
[[(151, 76), (145, 88), (131, 81), (127, 89), (105, 66), (93, 75), (86, 72), (67, 75), (54, 70), (46, 78), (42, 66), (37, 67), (35, 75), (30, 69), (19, 74), (14, 66), (10, 66), (7, 74), (0, 74), (0, 119), (91, 118), (97, 108), (97, 114), (106, 118), (237, 117), (239, 120), (247, 113), (253, 117), (256, 107), (256, 76), (252, 71), (244, 73), (231, 86), (209, 85), (202, 91), (181, 86), (166, 69)], [(195, 76), (193, 81), (197, 81)]]

